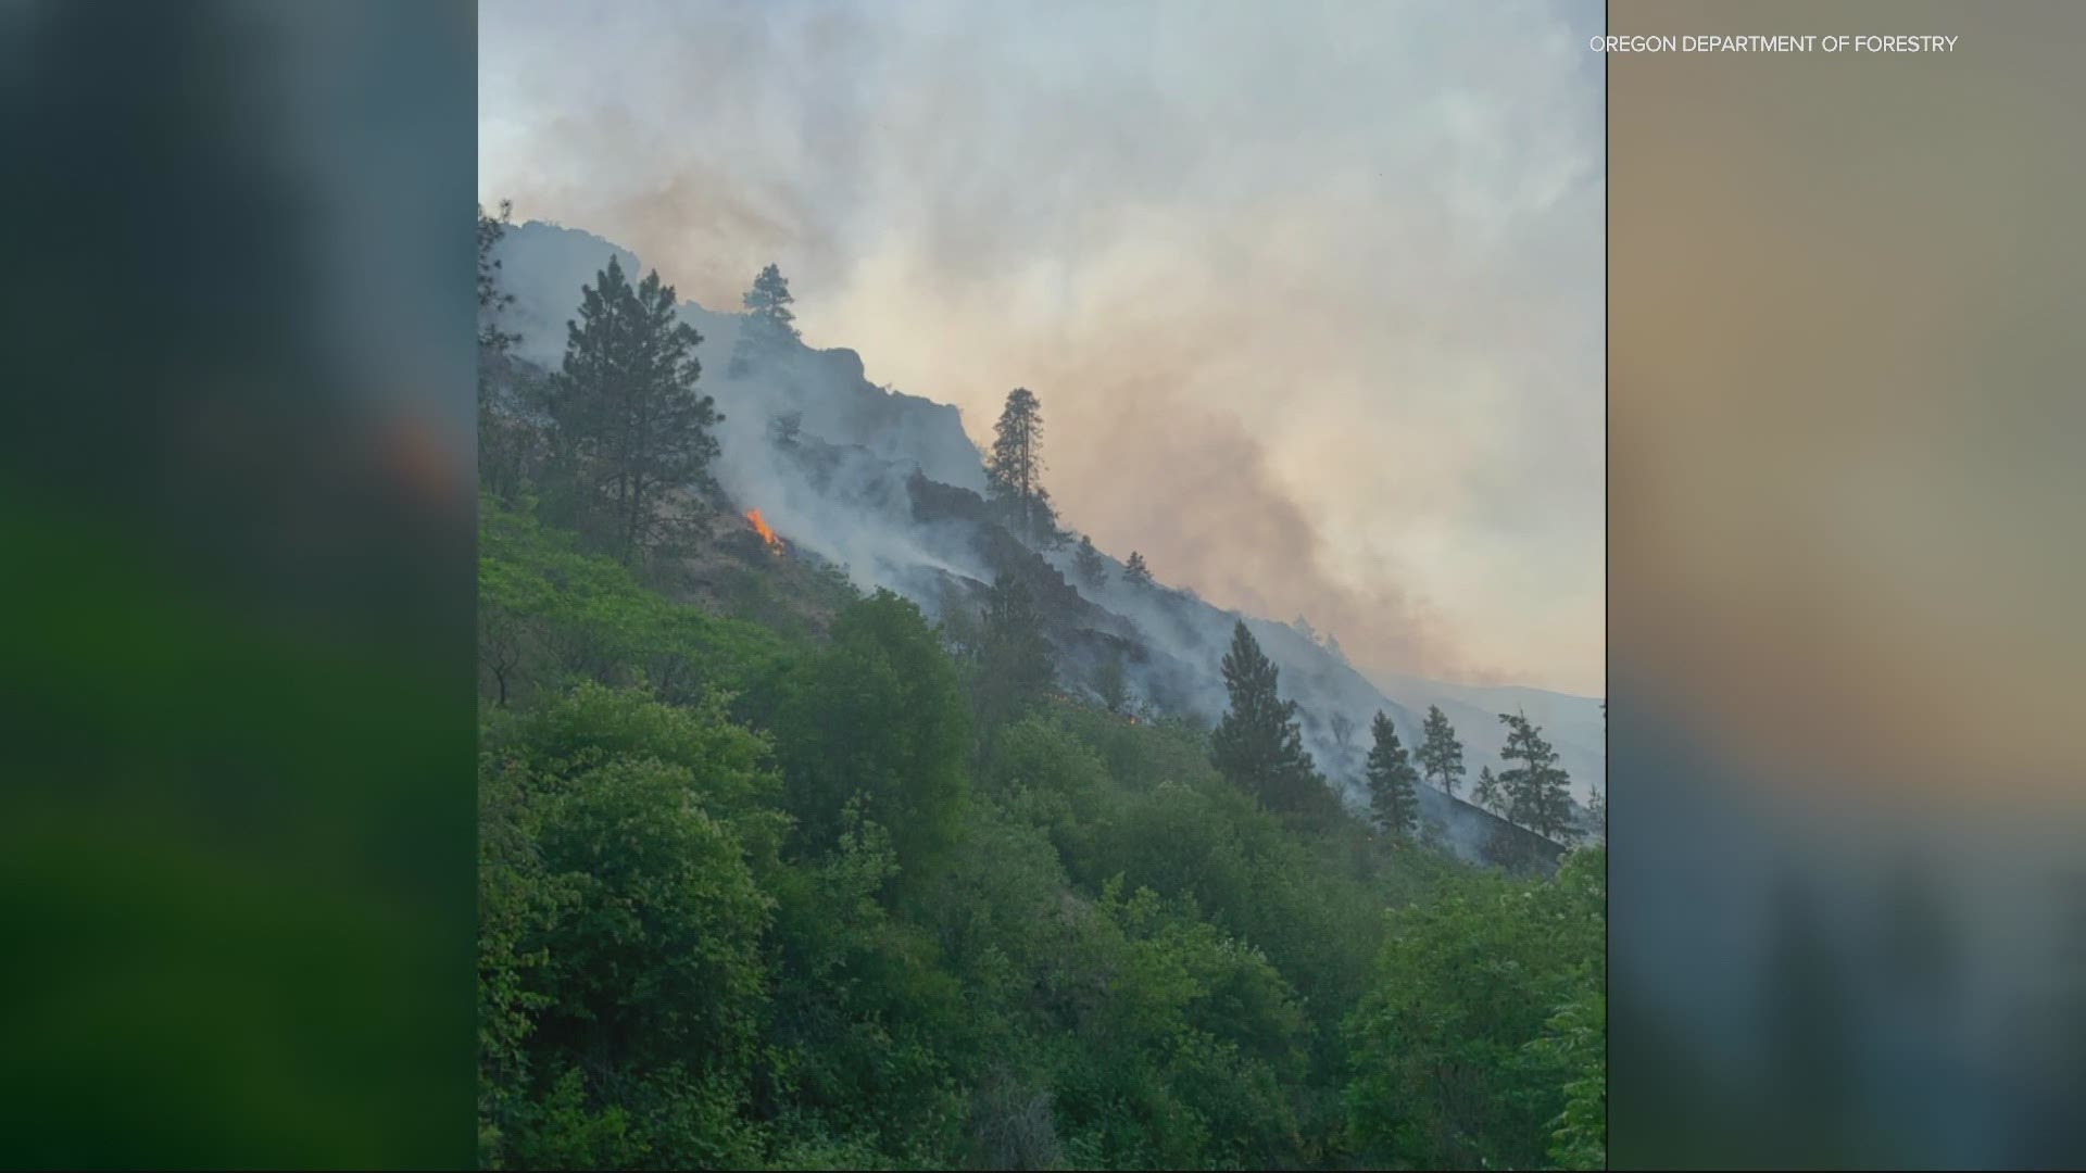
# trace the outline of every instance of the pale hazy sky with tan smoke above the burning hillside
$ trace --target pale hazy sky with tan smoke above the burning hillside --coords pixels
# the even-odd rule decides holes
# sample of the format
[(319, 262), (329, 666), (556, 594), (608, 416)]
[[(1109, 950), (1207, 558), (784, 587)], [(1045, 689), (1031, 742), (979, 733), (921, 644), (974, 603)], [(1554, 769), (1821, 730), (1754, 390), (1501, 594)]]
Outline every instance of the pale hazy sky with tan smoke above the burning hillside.
[[(1101, 549), (1358, 664), (1598, 695), (1592, 4), (480, 8), (480, 192), (955, 403)], [(715, 365), (715, 361), (711, 363)]]

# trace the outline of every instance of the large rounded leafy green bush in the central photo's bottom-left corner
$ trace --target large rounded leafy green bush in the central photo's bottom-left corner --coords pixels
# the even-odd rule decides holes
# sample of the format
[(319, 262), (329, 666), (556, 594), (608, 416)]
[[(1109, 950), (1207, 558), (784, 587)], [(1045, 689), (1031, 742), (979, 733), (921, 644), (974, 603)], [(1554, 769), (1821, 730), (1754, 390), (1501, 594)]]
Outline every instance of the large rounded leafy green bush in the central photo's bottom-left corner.
[[(488, 1165), (711, 1165), (768, 1006), (782, 829), (766, 741), (722, 703), (582, 685), (496, 718), (482, 760)], [(770, 864), (772, 870), (772, 864)]]

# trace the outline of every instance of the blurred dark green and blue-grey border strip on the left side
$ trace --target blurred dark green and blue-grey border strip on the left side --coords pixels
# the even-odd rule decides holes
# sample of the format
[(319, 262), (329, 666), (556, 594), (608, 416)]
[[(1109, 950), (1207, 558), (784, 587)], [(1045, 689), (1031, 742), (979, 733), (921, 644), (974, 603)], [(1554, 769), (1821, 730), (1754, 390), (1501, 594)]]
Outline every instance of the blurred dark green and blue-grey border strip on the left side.
[(0, 77), (0, 1165), (469, 1167), (476, 8)]

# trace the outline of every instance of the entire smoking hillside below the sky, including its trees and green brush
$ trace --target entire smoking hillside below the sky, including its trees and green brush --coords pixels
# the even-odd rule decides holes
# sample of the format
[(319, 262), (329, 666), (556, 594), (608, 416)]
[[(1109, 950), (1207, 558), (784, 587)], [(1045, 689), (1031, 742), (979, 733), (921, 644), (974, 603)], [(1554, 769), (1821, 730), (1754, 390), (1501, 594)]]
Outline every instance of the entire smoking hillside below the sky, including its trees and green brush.
[(1308, 622), (1039, 524), (1039, 394), (989, 461), (776, 330), (711, 401), (763, 309), (547, 232), (482, 296), (536, 453), (480, 499), (488, 1167), (1604, 1163), (1600, 847), (1421, 785)]

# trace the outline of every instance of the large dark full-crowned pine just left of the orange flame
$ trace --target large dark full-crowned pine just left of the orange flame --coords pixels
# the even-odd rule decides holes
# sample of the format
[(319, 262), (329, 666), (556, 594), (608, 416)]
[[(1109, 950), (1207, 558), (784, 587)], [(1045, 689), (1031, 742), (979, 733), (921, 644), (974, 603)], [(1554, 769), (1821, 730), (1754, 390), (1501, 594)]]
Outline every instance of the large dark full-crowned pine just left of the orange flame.
[(672, 509), (672, 495), (711, 488), (722, 415), (695, 390), (703, 336), (676, 317), (657, 269), (632, 288), (615, 257), (580, 288), (565, 334), (551, 417), (588, 528), (630, 564), (686, 528), (693, 505)]

